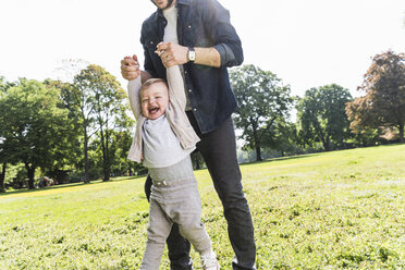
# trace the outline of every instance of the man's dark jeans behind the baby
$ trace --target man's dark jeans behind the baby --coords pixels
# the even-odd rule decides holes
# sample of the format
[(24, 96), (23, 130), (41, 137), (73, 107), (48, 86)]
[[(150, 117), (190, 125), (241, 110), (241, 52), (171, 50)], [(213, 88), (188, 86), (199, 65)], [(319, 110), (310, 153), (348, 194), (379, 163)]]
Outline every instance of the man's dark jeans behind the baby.
[[(236, 140), (233, 121), (230, 118), (218, 130), (201, 134), (193, 113), (187, 116), (200, 137), (197, 149), (200, 151), (211, 174), (216, 191), (222, 201), (224, 216), (228, 221), (228, 233), (235, 258), (233, 269), (256, 269), (256, 245), (250, 210), (242, 191), (242, 176), (236, 158)], [(145, 193), (149, 198), (151, 179), (147, 177)], [(167, 240), (169, 258), (172, 270), (192, 269), (188, 241), (173, 225)]]

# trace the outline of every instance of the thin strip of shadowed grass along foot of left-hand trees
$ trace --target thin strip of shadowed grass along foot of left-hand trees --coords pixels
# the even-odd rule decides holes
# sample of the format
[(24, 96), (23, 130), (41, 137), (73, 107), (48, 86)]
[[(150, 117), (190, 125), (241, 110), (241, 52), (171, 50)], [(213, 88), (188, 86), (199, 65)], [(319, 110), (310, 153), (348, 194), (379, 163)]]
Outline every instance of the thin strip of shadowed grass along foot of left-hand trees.
[(102, 180), (95, 180), (91, 181), (88, 184), (85, 184), (83, 182), (79, 183), (71, 183), (71, 184), (61, 184), (61, 185), (54, 185), (54, 186), (46, 186), (42, 188), (35, 188), (35, 189), (15, 189), (15, 191), (10, 191), (5, 193), (0, 193), (0, 197), (5, 197), (8, 195), (15, 195), (15, 194), (29, 194), (29, 193), (37, 193), (37, 192), (44, 192), (44, 191), (49, 191), (49, 189), (62, 189), (66, 187), (74, 187), (74, 186), (85, 186), (85, 185), (97, 185), (97, 184), (103, 184), (103, 183), (111, 183), (111, 182), (121, 182), (121, 181), (127, 181), (127, 180), (134, 180), (134, 179), (143, 179), (146, 175), (136, 175), (136, 176), (118, 176), (118, 177), (111, 177), (110, 181), (103, 182)]

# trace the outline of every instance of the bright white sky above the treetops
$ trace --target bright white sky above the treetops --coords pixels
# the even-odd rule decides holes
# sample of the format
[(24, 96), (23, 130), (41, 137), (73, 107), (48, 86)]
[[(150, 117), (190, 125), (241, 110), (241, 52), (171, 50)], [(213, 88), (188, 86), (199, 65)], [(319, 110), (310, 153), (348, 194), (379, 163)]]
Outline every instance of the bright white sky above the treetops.
[[(294, 95), (336, 83), (356, 95), (371, 58), (405, 52), (404, 0), (220, 0), (245, 62), (275, 73)], [(136, 53), (149, 0), (0, 0), (0, 76), (57, 78), (63, 59), (99, 64), (125, 86), (120, 60)]]

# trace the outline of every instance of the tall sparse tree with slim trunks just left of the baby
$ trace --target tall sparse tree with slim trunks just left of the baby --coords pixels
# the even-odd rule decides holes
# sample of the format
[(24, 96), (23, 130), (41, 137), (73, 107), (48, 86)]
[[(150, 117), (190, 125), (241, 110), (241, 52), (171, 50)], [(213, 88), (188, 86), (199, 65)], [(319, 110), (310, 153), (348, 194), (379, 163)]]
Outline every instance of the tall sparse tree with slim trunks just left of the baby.
[[(110, 180), (111, 159), (110, 152), (111, 132), (114, 121), (125, 116), (126, 106), (123, 100), (126, 95), (116, 78), (99, 65), (90, 64), (75, 76), (74, 84), (77, 91), (83, 131), (85, 171), (88, 177), (88, 139), (89, 130), (99, 136), (102, 151), (103, 181)], [(88, 181), (88, 179), (87, 179)]]

